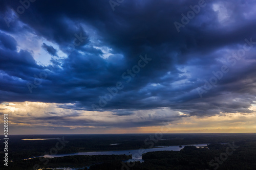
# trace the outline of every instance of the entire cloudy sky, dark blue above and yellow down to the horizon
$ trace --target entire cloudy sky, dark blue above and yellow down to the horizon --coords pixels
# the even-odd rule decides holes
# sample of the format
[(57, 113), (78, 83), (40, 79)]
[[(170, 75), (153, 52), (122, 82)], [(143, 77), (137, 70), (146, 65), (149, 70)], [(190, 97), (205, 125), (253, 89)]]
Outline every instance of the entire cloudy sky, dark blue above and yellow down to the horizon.
[(256, 2), (1, 1), (10, 134), (255, 133)]

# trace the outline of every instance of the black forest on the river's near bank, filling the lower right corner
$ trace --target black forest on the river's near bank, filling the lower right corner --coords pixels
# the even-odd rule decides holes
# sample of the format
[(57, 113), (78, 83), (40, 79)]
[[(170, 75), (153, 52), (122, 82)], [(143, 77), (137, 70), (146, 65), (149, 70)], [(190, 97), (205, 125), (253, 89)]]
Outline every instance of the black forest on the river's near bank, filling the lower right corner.
[[(231, 144), (231, 143), (230, 143)], [(129, 170), (241, 170), (255, 169), (256, 167), (256, 141), (235, 143), (239, 148), (235, 151), (229, 149), (225, 155), (227, 144), (209, 144), (208, 148), (196, 148), (194, 146), (184, 147), (178, 151), (148, 152), (142, 156), (144, 162), (134, 164), (123, 164), (120, 161), (105, 162), (92, 165), (90, 170), (100, 169), (129, 169)], [(225, 157), (226, 156), (226, 157)], [(111, 167), (111, 168), (106, 168)]]

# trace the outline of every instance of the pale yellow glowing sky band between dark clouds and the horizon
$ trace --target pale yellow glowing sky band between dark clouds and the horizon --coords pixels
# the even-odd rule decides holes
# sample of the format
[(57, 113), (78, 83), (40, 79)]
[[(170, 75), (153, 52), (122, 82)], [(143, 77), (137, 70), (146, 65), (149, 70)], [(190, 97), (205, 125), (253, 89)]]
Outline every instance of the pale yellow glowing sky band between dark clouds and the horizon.
[[(8, 114), (10, 134), (255, 133), (256, 106), (252, 105), (249, 109), (251, 113), (199, 117), (169, 108), (116, 115), (112, 111), (63, 108), (56, 103), (14, 102), (0, 105), (0, 112)], [(3, 119), (0, 123), (3, 124)]]

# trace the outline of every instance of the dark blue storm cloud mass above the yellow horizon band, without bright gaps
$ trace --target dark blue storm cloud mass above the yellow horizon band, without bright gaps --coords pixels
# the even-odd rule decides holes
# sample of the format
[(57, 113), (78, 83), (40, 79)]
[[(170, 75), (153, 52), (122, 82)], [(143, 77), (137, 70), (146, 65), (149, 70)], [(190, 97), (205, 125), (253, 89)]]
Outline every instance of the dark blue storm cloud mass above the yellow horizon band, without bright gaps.
[[(1, 3), (1, 16), (10, 16), (11, 9), (20, 5)], [(227, 13), (215, 11), (213, 4), (220, 4)], [(66, 107), (92, 110), (92, 104), (99, 105), (99, 96), (122, 82), (123, 89), (103, 110), (170, 107), (198, 116), (249, 113), (256, 94), (255, 46), (235, 66), (226, 58), (243, 46), (245, 38), (256, 41), (255, 2), (206, 1), (178, 33), (174, 22), (181, 22), (190, 5), (198, 1), (125, 1), (115, 11), (108, 1), (36, 1), (10, 27), (0, 18), (0, 101), (74, 103)], [(223, 16), (228, 17), (224, 22)], [(52, 67), (38, 65), (28, 51), (17, 51), (16, 41), (9, 36), (20, 31), (57, 44), (68, 57), (52, 59)], [(95, 46), (111, 48), (112, 55), (103, 59), (103, 47)], [(52, 46), (43, 47), (56, 55)], [(152, 60), (127, 83), (122, 74), (145, 54)], [(197, 89), (224, 64), (229, 72), (200, 99)], [(27, 83), (33, 84), (34, 75), (39, 77), (47, 69), (51, 74), (30, 93)]]

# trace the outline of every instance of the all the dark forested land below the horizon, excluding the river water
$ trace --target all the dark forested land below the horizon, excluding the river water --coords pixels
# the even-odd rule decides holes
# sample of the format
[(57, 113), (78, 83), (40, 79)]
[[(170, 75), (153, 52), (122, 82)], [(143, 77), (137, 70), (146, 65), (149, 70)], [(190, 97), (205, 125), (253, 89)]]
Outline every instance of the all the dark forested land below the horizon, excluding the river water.
[[(59, 135), (60, 136), (60, 135)], [(144, 162), (126, 162), (131, 155), (75, 155), (44, 158), (58, 140), (20, 140), (24, 136), (13, 136), (9, 140), (8, 167), (1, 169), (39, 169), (56, 167), (82, 167), (83, 169), (255, 169), (255, 134), (164, 134), (154, 140), (154, 146), (145, 144), (152, 134), (126, 135), (66, 135), (65, 146), (57, 154), (90, 151), (116, 151), (150, 148), (168, 145), (209, 143), (207, 148), (186, 146), (181, 151), (148, 152), (142, 155)], [(49, 136), (30, 136), (39, 138)], [(54, 138), (56, 136), (50, 136)], [(119, 143), (111, 145), (113, 143)], [(232, 147), (233, 146), (233, 147)], [(1, 145), (3, 147), (3, 145)], [(0, 153), (1, 156), (3, 155)], [(39, 157), (36, 157), (39, 156)], [(36, 157), (27, 159), (30, 157)]]

